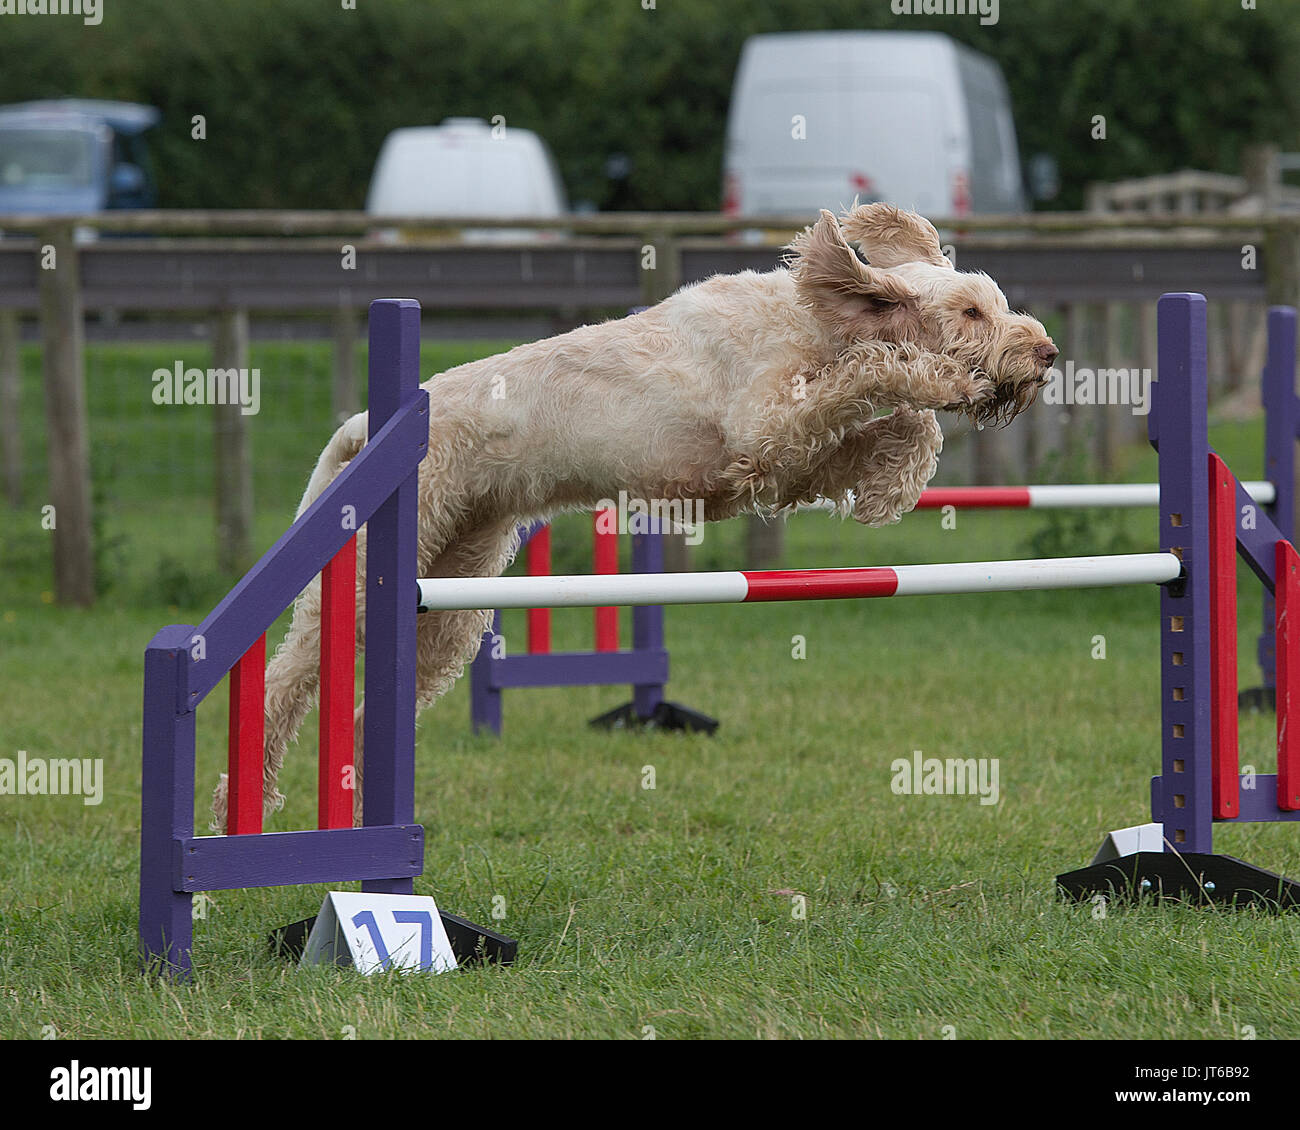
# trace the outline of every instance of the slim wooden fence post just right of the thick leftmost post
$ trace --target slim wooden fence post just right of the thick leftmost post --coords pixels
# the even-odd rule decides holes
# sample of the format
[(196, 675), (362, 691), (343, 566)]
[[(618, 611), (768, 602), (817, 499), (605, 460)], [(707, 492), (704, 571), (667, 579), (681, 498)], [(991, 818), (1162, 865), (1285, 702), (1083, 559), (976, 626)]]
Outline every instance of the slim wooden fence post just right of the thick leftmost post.
[[(212, 334), (212, 367), (248, 368), (247, 311), (218, 311)], [(225, 385), (242, 388), (238, 377)], [(248, 443), (248, 417), (239, 397), (226, 399), (233, 403), (212, 406), (217, 567), (225, 573), (242, 573), (252, 564), (252, 449)]]

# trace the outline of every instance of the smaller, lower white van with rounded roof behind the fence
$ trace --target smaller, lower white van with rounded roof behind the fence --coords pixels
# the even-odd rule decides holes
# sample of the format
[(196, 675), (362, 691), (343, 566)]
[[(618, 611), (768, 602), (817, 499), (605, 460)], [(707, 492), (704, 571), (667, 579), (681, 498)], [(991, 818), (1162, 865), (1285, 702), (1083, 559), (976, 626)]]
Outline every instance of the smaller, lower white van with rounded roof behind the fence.
[(394, 130), (384, 139), (365, 211), (373, 216), (563, 216), (564, 183), (532, 130), (482, 118)]

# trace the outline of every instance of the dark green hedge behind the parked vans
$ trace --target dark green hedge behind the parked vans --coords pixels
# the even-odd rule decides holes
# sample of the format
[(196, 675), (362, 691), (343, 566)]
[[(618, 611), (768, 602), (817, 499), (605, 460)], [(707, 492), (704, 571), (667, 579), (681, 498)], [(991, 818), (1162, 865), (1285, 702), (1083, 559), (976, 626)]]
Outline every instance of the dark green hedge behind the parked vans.
[[(1057, 207), (1078, 207), (1089, 179), (1235, 172), (1252, 140), (1300, 148), (1300, 0), (1001, 0), (988, 27), (894, 16), (889, 0), (655, 3), (103, 0), (98, 27), (0, 16), (0, 103), (161, 107), (168, 207), (360, 207), (390, 129), (500, 113), (546, 137), (573, 200), (711, 209), (748, 35), (898, 27), (1002, 64), (1022, 152), (1061, 164)], [(198, 113), (205, 142), (190, 139)], [(1096, 113), (1106, 142), (1089, 137)], [(621, 185), (603, 172), (614, 152), (632, 159)]]

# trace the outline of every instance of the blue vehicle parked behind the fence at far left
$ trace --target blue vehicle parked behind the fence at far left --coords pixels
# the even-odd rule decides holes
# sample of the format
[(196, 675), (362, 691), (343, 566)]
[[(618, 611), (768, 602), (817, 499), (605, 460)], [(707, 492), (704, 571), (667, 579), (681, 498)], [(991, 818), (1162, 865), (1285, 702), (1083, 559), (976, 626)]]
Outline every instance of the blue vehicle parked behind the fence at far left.
[(0, 107), (0, 216), (152, 208), (148, 105), (53, 99)]

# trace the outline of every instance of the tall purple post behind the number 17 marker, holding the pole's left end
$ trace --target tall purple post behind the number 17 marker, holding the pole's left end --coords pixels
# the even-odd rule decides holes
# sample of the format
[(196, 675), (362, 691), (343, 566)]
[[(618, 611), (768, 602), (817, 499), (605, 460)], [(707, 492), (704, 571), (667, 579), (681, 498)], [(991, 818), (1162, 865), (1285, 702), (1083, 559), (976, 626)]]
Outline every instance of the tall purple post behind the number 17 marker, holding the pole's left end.
[[(420, 395), (420, 303), (370, 303), (369, 433)], [(367, 525), (365, 826), (415, 823), (416, 538), (419, 469)], [(370, 879), (364, 891), (410, 895), (411, 878)]]

